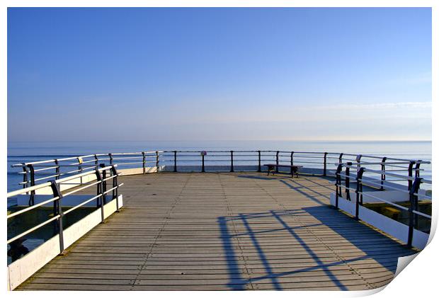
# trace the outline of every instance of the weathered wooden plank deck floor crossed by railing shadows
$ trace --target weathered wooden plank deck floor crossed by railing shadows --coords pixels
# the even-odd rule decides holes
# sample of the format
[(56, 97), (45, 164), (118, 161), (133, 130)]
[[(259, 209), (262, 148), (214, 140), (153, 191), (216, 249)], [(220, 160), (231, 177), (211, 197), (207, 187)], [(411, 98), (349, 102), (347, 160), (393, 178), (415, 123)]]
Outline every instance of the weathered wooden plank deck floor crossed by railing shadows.
[(333, 181), (125, 176), (125, 207), (18, 290), (368, 290), (403, 244), (328, 206)]

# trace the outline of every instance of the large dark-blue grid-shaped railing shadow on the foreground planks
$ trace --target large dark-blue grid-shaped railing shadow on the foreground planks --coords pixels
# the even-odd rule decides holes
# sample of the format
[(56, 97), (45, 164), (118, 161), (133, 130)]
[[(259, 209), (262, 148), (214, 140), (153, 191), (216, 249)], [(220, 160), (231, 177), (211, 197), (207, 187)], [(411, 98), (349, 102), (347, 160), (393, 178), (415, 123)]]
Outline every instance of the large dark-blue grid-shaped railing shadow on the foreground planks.
[[(312, 216), (314, 219), (317, 219), (318, 223), (291, 227), (284, 217), (292, 217), (295, 215)], [(258, 231), (255, 231), (251, 224), (252, 219), (261, 219), (263, 217), (274, 219), (278, 227), (275, 229), (263, 229), (261, 231), (259, 225), (257, 225)], [(414, 251), (404, 248), (401, 243), (389, 239), (387, 236), (363, 224), (354, 222), (353, 219), (347, 217), (345, 214), (341, 214), (337, 210), (324, 206), (305, 207), (301, 210), (269, 210), (268, 212), (261, 213), (239, 214), (234, 217), (219, 217), (217, 222), (220, 226), (222, 247), (226, 256), (229, 274), (229, 283), (227, 285), (231, 290), (245, 290), (246, 287), (251, 286), (251, 282), (262, 280), (268, 280), (275, 290), (283, 290), (280, 277), (294, 277), (296, 273), (305, 273), (314, 270), (321, 270), (339, 290), (347, 290), (346, 286), (343, 285), (343, 281), (339, 280), (338, 275), (331, 270), (334, 266), (348, 265), (358, 260), (375, 260), (375, 262), (379, 263), (382, 267), (394, 273), (399, 256), (408, 256), (414, 253)], [(236, 224), (244, 226), (245, 231), (236, 231)], [(339, 258), (333, 262), (328, 262), (319, 257), (319, 253), (313, 250), (307, 239), (303, 239), (300, 233), (297, 232), (300, 229), (312, 229), (319, 226), (329, 227), (333, 232), (343, 237), (353, 248), (358, 249), (357, 255), (360, 256)], [(349, 231), (349, 228), (354, 226), (355, 233), (352, 233)], [(279, 231), (287, 231), (292, 237), (292, 243), (299, 243), (309, 257), (314, 260), (315, 265), (304, 266), (304, 268), (297, 270), (285, 270), (285, 268), (280, 270), (280, 268), (273, 268), (272, 265), (270, 265), (270, 256), (264, 251), (263, 244), (261, 244), (258, 236)], [(367, 236), (364, 237), (362, 234)], [(246, 252), (242, 251), (239, 244), (236, 244), (239, 243), (240, 237), (245, 237), (250, 240), (253, 248), (256, 250), (258, 261), (261, 262), (265, 273), (258, 275), (244, 274), (246, 272)], [(379, 248), (374, 245), (374, 242), (379, 243)], [(331, 243), (325, 243), (325, 245), (331, 246)], [(337, 244), (335, 246), (337, 246)], [(380, 251), (382, 247), (392, 248), (392, 251), (383, 253)], [(336, 249), (336, 247), (333, 247), (333, 249)]]

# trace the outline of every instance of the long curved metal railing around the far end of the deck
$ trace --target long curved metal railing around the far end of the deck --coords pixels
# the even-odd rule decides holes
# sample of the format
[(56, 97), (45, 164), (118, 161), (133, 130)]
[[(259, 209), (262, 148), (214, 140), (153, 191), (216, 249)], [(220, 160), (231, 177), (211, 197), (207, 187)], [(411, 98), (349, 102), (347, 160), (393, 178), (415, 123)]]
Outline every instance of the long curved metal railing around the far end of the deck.
[[(302, 171), (319, 174), (321, 176), (335, 176), (336, 162), (345, 164), (351, 162), (360, 168), (365, 166), (375, 170), (375, 176), (380, 180), (380, 185), (374, 187), (384, 190), (387, 182), (401, 183), (404, 179), (392, 175), (392, 173), (406, 172), (410, 177), (419, 177), (424, 171), (422, 164), (430, 164), (428, 161), (397, 159), (387, 156), (370, 156), (362, 154), (346, 154), (323, 151), (274, 151), (274, 150), (173, 150), (173, 151), (139, 151), (130, 153), (89, 154), (84, 156), (72, 156), (63, 159), (49, 159), (45, 161), (25, 162), (13, 164), (12, 167), (22, 168), (18, 172), (23, 175), (23, 188), (37, 185), (48, 178), (62, 178), (76, 173), (96, 169), (102, 162), (108, 164), (118, 163), (120, 168), (134, 166), (143, 168), (142, 173), (147, 173), (148, 167), (159, 166), (171, 167), (174, 172), (184, 171), (186, 166), (191, 166), (191, 171), (205, 172), (208, 166), (222, 166), (216, 171), (239, 171), (240, 166), (253, 166), (254, 170), (263, 171), (263, 164), (275, 163), (280, 165), (302, 165)], [(242, 167), (241, 167), (242, 168)], [(276, 171), (279, 172), (279, 168)], [(241, 170), (242, 171), (242, 170)], [(411, 180), (407, 181), (408, 188)]]

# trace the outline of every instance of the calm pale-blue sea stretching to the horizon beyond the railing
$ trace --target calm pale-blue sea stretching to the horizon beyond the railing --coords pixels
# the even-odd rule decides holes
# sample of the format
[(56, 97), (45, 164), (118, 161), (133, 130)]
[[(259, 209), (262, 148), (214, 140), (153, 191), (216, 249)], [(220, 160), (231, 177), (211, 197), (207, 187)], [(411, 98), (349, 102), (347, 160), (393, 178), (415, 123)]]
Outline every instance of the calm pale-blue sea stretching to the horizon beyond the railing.
[[(11, 164), (61, 156), (155, 150), (328, 151), (431, 161), (431, 142), (297, 142), (297, 141), (136, 141), (136, 142), (8, 142), (8, 191), (18, 188), (20, 168)], [(423, 166), (431, 178), (431, 166)]]

